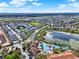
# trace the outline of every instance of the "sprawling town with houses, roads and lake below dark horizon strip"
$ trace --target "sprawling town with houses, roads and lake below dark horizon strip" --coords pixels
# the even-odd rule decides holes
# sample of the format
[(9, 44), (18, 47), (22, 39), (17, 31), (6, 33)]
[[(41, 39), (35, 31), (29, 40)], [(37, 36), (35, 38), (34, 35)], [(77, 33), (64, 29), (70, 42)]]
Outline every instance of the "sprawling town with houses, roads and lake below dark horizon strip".
[(79, 59), (78, 19), (78, 15), (1, 17), (0, 58)]

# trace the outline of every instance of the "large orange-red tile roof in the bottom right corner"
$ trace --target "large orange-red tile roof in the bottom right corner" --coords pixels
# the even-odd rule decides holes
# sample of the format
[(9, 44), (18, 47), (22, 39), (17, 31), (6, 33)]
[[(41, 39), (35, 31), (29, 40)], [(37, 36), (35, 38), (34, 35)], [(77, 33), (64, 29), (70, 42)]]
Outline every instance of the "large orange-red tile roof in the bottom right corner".
[(61, 54), (49, 54), (47, 59), (79, 59), (71, 52), (65, 52)]

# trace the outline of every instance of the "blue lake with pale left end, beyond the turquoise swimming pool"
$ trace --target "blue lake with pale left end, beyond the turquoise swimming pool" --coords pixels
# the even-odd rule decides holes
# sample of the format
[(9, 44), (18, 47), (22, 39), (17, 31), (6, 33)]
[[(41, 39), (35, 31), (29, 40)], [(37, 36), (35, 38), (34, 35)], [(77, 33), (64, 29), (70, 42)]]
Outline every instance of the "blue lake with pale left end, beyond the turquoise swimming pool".
[(71, 34), (66, 32), (48, 32), (46, 36), (44, 36), (47, 40), (53, 40), (53, 39), (61, 39), (69, 41), (70, 39), (79, 40), (78, 34)]

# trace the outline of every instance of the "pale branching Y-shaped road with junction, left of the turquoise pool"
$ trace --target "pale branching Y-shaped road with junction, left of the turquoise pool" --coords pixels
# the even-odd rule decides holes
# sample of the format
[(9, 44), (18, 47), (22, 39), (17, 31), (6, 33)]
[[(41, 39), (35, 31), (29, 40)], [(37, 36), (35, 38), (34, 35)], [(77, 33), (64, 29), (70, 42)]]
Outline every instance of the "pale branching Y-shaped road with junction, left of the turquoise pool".
[[(20, 36), (19, 34), (17, 34), (11, 27), (9, 27), (9, 26), (7, 26), (7, 27), (12, 31), (12, 33), (13, 33), (14, 35), (16, 35), (16, 37), (17, 37), (20, 41), (22, 40), (21, 36)], [(40, 28), (40, 29), (38, 29), (38, 30), (35, 30), (34, 33), (32, 33), (32, 35), (31, 35), (26, 41), (21, 42), (21, 43), (16, 43), (16, 44), (13, 45), (14, 47), (18, 47), (18, 48), (21, 49), (21, 53), (22, 53), (24, 56), (26, 56), (26, 59), (29, 59), (29, 55), (28, 55), (28, 53), (23, 52), (22, 43), (30, 42), (30, 41), (34, 40), (36, 34), (37, 34), (41, 29), (43, 29), (43, 28), (45, 28), (45, 27), (42, 27), (42, 28)], [(34, 59), (34, 58), (32, 58), (32, 59)]]

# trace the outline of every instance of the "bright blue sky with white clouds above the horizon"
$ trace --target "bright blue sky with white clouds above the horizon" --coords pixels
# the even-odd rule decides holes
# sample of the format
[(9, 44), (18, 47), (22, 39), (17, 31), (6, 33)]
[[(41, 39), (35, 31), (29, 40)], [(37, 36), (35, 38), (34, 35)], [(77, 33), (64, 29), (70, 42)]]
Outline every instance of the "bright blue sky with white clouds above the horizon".
[(0, 0), (0, 13), (72, 12), (79, 12), (79, 0)]

